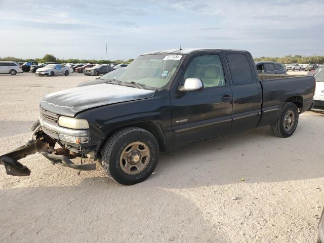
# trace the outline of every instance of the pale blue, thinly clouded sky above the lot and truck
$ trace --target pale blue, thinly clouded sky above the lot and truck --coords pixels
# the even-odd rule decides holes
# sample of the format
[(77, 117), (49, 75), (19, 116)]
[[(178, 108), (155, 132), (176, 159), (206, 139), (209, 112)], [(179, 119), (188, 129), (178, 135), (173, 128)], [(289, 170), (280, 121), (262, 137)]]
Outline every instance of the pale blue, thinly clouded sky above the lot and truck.
[(0, 0), (0, 57), (128, 60), (149, 51), (324, 55), (324, 0)]

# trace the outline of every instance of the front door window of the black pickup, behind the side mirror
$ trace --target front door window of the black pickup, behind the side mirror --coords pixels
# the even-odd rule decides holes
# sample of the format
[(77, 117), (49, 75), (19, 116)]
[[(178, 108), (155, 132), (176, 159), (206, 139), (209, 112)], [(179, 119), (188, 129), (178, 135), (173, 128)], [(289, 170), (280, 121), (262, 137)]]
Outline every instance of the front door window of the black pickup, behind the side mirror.
[(223, 66), (218, 55), (203, 55), (192, 59), (184, 80), (189, 77), (199, 78), (204, 88), (225, 86)]

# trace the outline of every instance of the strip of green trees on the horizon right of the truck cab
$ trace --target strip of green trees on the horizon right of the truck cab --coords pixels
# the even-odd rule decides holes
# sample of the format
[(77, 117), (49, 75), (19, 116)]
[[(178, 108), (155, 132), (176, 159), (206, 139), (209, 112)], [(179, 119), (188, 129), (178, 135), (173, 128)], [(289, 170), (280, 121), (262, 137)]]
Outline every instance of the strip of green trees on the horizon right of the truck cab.
[(324, 56), (302, 57), (301, 55), (288, 55), (285, 57), (258, 57), (254, 58), (254, 61), (271, 61), (279, 62), (282, 64), (299, 63), (299, 64), (311, 64), (311, 63), (324, 63)]

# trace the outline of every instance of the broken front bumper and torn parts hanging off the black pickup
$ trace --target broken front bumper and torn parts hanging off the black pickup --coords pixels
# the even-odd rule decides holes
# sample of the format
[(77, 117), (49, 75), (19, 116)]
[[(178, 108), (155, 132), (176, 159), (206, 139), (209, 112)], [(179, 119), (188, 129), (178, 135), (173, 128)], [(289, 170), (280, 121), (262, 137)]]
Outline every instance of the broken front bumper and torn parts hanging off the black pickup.
[(30, 127), (33, 131), (31, 140), (25, 145), (20, 146), (10, 152), (0, 155), (0, 165), (6, 167), (8, 175), (12, 176), (29, 176), (30, 170), (22, 165), (18, 160), (30, 154), (39, 152), (49, 159), (53, 165), (69, 167), (80, 171), (91, 171), (96, 169), (96, 164), (74, 164), (70, 159), (75, 158), (76, 154), (72, 154), (66, 148), (54, 148), (56, 140), (45, 134), (37, 121)]

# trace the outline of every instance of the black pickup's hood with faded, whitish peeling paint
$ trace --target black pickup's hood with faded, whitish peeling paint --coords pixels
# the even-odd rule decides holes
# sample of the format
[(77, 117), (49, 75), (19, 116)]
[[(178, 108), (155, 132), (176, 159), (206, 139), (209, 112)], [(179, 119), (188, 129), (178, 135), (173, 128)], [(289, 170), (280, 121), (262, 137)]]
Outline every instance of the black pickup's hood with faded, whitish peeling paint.
[(58, 91), (45, 96), (41, 107), (50, 112), (74, 117), (76, 113), (103, 105), (153, 97), (155, 91), (98, 84)]

